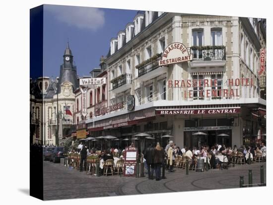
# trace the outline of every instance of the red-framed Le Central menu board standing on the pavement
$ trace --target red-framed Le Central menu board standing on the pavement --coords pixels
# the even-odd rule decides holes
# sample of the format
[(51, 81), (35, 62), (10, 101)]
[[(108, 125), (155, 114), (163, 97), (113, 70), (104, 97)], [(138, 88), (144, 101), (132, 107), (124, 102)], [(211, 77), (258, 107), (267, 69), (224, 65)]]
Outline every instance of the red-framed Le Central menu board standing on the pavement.
[(126, 147), (124, 156), (124, 176), (136, 176), (136, 163), (138, 151), (135, 147)]

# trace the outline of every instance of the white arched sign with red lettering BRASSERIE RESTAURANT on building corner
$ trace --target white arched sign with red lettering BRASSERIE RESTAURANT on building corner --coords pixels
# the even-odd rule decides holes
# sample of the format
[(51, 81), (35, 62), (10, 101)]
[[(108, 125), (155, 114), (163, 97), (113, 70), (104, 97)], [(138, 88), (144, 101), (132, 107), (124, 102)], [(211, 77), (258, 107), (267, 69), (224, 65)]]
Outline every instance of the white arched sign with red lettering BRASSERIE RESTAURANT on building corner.
[(193, 54), (181, 43), (170, 44), (163, 52), (162, 59), (159, 60), (159, 66), (172, 63), (180, 63), (193, 59)]

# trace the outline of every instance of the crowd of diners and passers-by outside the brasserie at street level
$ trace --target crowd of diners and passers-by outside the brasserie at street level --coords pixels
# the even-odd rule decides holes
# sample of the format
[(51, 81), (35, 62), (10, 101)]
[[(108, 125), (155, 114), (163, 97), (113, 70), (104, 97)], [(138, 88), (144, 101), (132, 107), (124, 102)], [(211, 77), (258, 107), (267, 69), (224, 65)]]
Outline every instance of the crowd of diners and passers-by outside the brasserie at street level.
[[(132, 143), (130, 147), (134, 146), (134, 143)], [(233, 149), (231, 147), (218, 144), (211, 147), (203, 145), (200, 148), (189, 148), (184, 146), (182, 149), (180, 149), (180, 147), (176, 146), (173, 141), (169, 141), (169, 144), (167, 144), (165, 149), (163, 149), (159, 143), (157, 143), (156, 146), (150, 144), (143, 151), (143, 153), (140, 154), (140, 157), (143, 157), (143, 162), (147, 169), (148, 179), (153, 180), (153, 174), (155, 172), (155, 180), (159, 181), (161, 179), (161, 167), (168, 170), (168, 172), (174, 172), (175, 159), (179, 155), (184, 155), (188, 160), (192, 161), (196, 157), (204, 159), (205, 161), (208, 159), (210, 167), (223, 169), (222, 165), (229, 162), (229, 156), (232, 153), (238, 152), (241, 152), (246, 160), (249, 159), (249, 157), (251, 160), (254, 160), (255, 153), (260, 153), (264, 158), (266, 158), (266, 146), (264, 143), (258, 144), (256, 147), (240, 146), (237, 148), (237, 146), (234, 145)], [(97, 155), (100, 161), (100, 172), (102, 173), (103, 162), (105, 162), (107, 159), (112, 159), (114, 164), (116, 164), (119, 159), (124, 158), (125, 150), (118, 148), (111, 148), (110, 150), (99, 150), (98, 148), (92, 148), (89, 151), (87, 146), (83, 145), (81, 142), (78, 145), (77, 150), (71, 150), (68, 154), (73, 153), (78, 153), (81, 155), (80, 171), (83, 171), (83, 169), (86, 170), (86, 158), (88, 156)], [(208, 158), (208, 156), (210, 157)]]

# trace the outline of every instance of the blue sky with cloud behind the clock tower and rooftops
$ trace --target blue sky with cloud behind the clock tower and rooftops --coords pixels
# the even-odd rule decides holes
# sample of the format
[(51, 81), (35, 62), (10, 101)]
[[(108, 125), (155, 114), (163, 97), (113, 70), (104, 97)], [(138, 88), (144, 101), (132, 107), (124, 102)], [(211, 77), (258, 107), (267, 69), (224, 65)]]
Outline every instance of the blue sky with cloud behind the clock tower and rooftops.
[(106, 55), (110, 39), (132, 22), (136, 10), (79, 6), (44, 6), (44, 76), (60, 75), (63, 54), (69, 47), (79, 76), (89, 75)]

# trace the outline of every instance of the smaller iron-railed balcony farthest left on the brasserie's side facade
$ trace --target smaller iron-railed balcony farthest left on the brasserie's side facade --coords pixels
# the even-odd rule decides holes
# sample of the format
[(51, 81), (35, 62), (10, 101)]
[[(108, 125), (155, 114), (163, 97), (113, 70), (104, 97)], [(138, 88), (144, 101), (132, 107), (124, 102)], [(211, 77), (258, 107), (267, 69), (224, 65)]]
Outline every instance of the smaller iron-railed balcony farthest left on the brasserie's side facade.
[(117, 78), (114, 78), (111, 80), (111, 83), (113, 85), (113, 92), (123, 92), (129, 88), (131, 88), (132, 85), (132, 74), (122, 74), (118, 76)]

